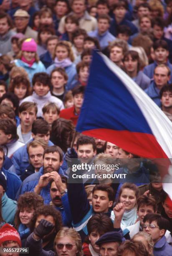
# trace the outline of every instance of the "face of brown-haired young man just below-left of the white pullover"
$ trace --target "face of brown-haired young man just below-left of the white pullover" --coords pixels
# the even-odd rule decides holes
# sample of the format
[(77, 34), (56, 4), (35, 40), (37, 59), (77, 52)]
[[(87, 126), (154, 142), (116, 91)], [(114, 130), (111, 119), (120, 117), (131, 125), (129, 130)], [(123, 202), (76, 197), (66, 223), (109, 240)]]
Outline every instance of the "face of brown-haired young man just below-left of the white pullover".
[(36, 119), (35, 108), (30, 108), (28, 110), (23, 110), (19, 113), (21, 119), (21, 124), (24, 126), (30, 126), (33, 124), (33, 121)]

